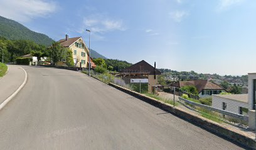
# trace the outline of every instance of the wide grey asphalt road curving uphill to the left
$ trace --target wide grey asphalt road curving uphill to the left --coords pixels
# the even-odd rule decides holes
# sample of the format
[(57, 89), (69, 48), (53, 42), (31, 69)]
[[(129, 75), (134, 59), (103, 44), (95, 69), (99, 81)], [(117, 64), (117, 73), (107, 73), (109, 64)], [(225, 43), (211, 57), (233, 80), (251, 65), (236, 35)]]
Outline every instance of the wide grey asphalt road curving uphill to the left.
[(242, 149), (75, 71), (24, 66), (0, 111), (0, 149)]

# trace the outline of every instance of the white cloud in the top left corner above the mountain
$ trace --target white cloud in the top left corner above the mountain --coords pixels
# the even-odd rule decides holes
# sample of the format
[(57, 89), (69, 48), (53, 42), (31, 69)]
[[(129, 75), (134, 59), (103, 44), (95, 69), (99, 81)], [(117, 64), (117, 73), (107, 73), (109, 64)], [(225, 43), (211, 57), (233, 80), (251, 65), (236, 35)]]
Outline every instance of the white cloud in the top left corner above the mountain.
[(0, 15), (15, 21), (27, 22), (47, 17), (56, 10), (56, 3), (45, 0), (0, 0)]

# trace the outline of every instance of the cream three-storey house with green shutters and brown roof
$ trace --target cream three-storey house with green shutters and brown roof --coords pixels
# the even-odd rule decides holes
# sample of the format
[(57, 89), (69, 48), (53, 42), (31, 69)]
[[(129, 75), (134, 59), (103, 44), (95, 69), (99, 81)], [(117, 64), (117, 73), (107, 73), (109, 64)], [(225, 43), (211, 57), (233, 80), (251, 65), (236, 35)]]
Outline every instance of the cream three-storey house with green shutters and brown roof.
[(68, 38), (66, 34), (65, 39), (60, 39), (60, 45), (63, 47), (67, 47), (73, 53), (73, 60), (77, 67), (88, 68), (89, 62), (89, 50), (83, 41), (82, 37), (72, 37)]

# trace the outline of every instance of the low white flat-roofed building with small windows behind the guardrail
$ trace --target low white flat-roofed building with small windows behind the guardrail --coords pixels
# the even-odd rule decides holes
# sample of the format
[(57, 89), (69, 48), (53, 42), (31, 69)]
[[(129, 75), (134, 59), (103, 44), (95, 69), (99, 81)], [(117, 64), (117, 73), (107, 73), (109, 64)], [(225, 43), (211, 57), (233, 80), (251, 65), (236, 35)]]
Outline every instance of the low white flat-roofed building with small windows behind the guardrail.
[(248, 94), (212, 95), (212, 107), (248, 116)]

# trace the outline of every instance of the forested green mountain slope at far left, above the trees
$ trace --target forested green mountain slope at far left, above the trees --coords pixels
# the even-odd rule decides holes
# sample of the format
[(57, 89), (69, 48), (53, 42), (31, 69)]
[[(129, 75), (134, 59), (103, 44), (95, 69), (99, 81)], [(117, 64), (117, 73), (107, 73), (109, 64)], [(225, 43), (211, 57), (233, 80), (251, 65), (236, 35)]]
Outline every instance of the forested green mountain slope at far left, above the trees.
[(38, 32), (31, 31), (28, 27), (23, 26), (19, 22), (0, 16), (0, 36), (12, 40), (30, 40), (37, 44), (50, 46), (53, 39)]

